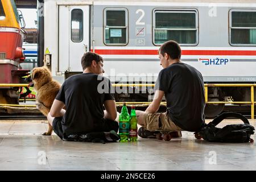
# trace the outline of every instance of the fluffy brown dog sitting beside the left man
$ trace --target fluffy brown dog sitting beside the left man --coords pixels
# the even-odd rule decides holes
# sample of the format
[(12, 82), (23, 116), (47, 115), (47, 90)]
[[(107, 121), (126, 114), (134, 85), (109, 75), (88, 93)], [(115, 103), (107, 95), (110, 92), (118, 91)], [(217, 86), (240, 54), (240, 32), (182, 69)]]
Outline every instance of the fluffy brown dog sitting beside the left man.
[[(37, 91), (36, 107), (47, 117), (61, 85), (52, 79), (51, 72), (47, 67), (34, 68), (31, 77), (34, 88)], [(43, 135), (52, 134), (52, 126), (49, 123), (48, 126), (48, 131), (43, 133)]]

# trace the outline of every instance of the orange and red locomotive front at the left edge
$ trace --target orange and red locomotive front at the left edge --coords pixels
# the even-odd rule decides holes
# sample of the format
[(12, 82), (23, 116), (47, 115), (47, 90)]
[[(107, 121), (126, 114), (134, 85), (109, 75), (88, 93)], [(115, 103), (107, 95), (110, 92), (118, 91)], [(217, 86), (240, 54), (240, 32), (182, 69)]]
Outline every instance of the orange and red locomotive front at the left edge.
[[(0, 0), (0, 84), (19, 84), (28, 70), (19, 69), (25, 57), (22, 49), (26, 35), (21, 11), (16, 9), (14, 0)], [(0, 89), (1, 104), (18, 103), (18, 87)]]

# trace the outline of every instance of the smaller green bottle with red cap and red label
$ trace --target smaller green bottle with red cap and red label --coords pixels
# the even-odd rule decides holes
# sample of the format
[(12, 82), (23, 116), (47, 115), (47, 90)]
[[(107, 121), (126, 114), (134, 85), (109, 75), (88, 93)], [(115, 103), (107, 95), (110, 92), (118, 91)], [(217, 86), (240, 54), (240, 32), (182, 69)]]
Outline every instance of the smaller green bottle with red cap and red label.
[(129, 138), (131, 141), (137, 141), (138, 139), (137, 117), (134, 106), (131, 106)]

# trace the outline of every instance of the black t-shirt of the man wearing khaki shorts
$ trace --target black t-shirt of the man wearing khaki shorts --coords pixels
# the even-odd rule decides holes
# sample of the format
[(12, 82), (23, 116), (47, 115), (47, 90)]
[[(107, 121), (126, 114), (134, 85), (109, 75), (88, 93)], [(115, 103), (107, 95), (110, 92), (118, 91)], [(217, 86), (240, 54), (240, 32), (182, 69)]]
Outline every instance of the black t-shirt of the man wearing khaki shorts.
[(204, 125), (204, 81), (197, 69), (172, 64), (160, 71), (155, 89), (164, 91), (168, 117), (181, 129), (197, 131)]

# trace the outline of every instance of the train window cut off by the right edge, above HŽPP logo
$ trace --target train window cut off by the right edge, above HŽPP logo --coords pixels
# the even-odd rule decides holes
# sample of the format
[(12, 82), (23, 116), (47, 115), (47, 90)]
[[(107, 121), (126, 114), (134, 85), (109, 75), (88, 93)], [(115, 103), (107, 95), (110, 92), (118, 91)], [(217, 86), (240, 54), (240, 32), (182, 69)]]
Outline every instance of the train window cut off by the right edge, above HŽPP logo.
[(230, 44), (256, 45), (256, 10), (232, 10), (230, 14)]

